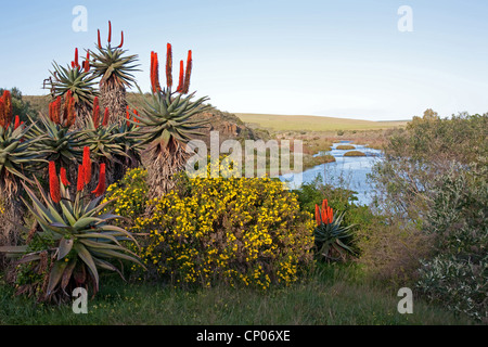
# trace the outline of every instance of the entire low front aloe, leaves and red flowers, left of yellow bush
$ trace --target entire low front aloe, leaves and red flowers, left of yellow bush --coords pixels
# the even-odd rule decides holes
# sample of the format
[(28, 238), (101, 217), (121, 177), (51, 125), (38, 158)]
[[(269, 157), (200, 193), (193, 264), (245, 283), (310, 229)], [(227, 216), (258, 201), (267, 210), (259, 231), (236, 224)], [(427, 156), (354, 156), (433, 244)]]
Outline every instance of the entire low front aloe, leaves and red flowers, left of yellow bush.
[(17, 288), (17, 293), (37, 293), (40, 301), (57, 303), (70, 298), (70, 291), (75, 287), (91, 287), (95, 295), (101, 269), (116, 271), (123, 277), (113, 260), (129, 260), (141, 265), (138, 256), (121, 243), (129, 241), (138, 245), (131, 233), (111, 224), (111, 220), (123, 217), (112, 213), (101, 214), (112, 202), (100, 203), (105, 191), (104, 164), (100, 166), (99, 184), (91, 192), (95, 198), (87, 201), (87, 196), (84, 196), (89, 177), (86, 174), (90, 170), (91, 168), (79, 165), (74, 197), (66, 189), (69, 182), (65, 172), (62, 170), (61, 177), (57, 176), (54, 162), (49, 164), (49, 194), (37, 179), (39, 194), (23, 182), (31, 204), (21, 198), (38, 224), (34, 229), (36, 236), (48, 246), (42, 249), (29, 249), (28, 246), (0, 247), (0, 252), (20, 256), (18, 264), (29, 264), (33, 271), (43, 273), (40, 281), (24, 284)]

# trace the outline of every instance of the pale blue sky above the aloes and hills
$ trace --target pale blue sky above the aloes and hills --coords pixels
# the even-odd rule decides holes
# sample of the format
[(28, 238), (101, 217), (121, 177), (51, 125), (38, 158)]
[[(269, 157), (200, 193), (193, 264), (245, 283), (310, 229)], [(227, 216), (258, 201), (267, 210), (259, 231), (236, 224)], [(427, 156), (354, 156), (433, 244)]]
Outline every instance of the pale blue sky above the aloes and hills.
[[(4, 2), (0, 87), (24, 94), (46, 93), (52, 62), (92, 49), (98, 28), (106, 39), (111, 20), (113, 40), (124, 30), (139, 54), (143, 90), (151, 51), (164, 61), (170, 42), (175, 66), (193, 50), (191, 89), (222, 111), (371, 120), (488, 112), (486, 0)], [(72, 29), (77, 4), (86, 33)], [(413, 33), (397, 28), (401, 5), (413, 10)]]

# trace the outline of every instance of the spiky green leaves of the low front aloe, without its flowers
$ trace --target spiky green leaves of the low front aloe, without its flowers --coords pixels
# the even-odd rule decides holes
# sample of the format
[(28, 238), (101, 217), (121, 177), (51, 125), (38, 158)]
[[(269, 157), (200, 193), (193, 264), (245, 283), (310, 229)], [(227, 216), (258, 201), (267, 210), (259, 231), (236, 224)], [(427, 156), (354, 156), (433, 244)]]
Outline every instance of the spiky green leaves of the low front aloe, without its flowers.
[[(23, 183), (31, 203), (27, 203), (24, 198), (23, 201), (43, 230), (43, 233), (38, 235), (41, 237), (49, 235), (50, 240), (54, 240), (54, 249), (43, 249), (28, 255), (25, 255), (25, 247), (15, 249), (2, 247), (0, 252), (20, 255), (24, 253), (25, 262), (40, 261), (41, 252), (51, 252), (55, 256), (49, 272), (46, 300), (66, 293), (65, 290), (69, 283), (78, 286), (80, 281), (82, 283), (91, 281), (93, 291), (97, 293), (100, 282), (99, 269), (116, 271), (121, 275), (111, 260), (129, 260), (143, 267), (137, 255), (119, 242), (129, 240), (139, 246), (133, 236), (125, 229), (110, 224), (111, 220), (123, 217), (112, 213), (101, 214), (106, 203), (100, 204), (101, 200), (95, 198), (85, 204), (84, 200), (79, 198), (80, 193), (75, 201), (72, 201), (68, 191), (62, 189), (62, 201), (56, 204), (52, 202), (49, 194), (46, 194), (37, 179), (35, 183), (39, 190), (38, 193)], [(53, 256), (51, 258), (54, 259)]]

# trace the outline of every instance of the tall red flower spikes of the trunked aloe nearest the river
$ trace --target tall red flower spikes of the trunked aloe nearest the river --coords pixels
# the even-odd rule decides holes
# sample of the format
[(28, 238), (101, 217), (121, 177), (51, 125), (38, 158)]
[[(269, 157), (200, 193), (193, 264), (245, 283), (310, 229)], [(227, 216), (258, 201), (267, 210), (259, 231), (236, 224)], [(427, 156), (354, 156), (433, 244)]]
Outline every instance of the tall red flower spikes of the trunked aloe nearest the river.
[[(151, 87), (153, 93), (160, 91), (159, 72), (158, 72), (157, 53), (151, 52)], [(180, 61), (180, 74), (178, 80), (177, 92), (187, 94), (190, 89), (190, 77), (192, 74), (192, 51), (188, 51), (187, 70), (184, 70), (184, 63)], [(166, 86), (168, 89), (172, 87), (172, 51), (171, 44), (166, 46)]]

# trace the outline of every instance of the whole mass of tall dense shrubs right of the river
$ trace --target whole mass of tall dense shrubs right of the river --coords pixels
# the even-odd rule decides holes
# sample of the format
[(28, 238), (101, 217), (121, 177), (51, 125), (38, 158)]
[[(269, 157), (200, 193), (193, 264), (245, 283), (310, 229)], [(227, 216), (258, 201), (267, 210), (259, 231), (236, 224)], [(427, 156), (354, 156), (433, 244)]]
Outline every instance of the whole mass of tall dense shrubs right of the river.
[(374, 170), (387, 223), (365, 234), (376, 275), (487, 322), (488, 114), (441, 119), (427, 111), (391, 134)]

